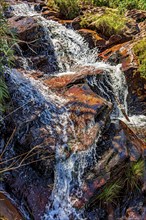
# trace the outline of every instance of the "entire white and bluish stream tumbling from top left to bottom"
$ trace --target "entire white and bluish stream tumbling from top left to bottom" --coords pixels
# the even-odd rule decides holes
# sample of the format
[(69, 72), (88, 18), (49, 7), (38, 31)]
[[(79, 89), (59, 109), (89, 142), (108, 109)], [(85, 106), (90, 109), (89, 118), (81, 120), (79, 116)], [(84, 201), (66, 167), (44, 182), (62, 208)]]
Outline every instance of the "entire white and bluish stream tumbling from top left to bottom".
[[(98, 49), (89, 49), (88, 44), (76, 31), (56, 21), (45, 19), (32, 6), (17, 4), (12, 6), (12, 10), (16, 17), (33, 17), (41, 26), (45, 36), (41, 39), (44, 42), (44, 51), (41, 53), (47, 57), (50, 66), (48, 69), (51, 70), (40, 80), (30, 78), (26, 71), (33, 73), (34, 63), (30, 62), (21, 48), (19, 53), (22, 55), (23, 76), (16, 69), (7, 70), (9, 83), (13, 86), (11, 93), (15, 94), (13, 99), (17, 100), (18, 106), (22, 106), (23, 109), (21, 117), (17, 114), (14, 116), (19, 119), (19, 126), (23, 125), (25, 120), (35, 117), (38, 111), (40, 122), (47, 127), (50, 137), (55, 138), (55, 146), (53, 144), (51, 146), (55, 149), (56, 161), (54, 186), (41, 220), (87, 220), (84, 208), (76, 209), (74, 204), (77, 198), (83, 195), (85, 173), (97, 164), (96, 148), (102, 129), (99, 129), (92, 146), (83, 151), (78, 151), (75, 147), (68, 156), (66, 151), (70, 148), (68, 129), (72, 133), (72, 142), (78, 142), (74, 121), (71, 118), (72, 105), (67, 105), (68, 99), (51, 91), (43, 80), (50, 76), (72, 75), (84, 67), (100, 69), (103, 74), (88, 76), (86, 84), (98, 96), (112, 103), (111, 122), (121, 119), (131, 127), (138, 124), (143, 128), (146, 126), (146, 117), (131, 115), (128, 111), (128, 86), (120, 64), (114, 66), (98, 61)], [(30, 102), (33, 103), (33, 107)], [(121, 109), (128, 115), (129, 122)], [(39, 122), (37, 123), (39, 126)], [(96, 126), (95, 118), (88, 125), (92, 126)]]

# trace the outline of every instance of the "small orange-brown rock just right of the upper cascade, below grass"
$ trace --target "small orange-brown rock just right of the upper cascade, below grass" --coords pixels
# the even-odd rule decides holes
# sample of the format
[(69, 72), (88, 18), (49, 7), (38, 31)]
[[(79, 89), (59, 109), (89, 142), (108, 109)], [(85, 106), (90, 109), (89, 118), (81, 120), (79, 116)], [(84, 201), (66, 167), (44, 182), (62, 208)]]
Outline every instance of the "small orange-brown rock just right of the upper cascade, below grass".
[(98, 47), (101, 51), (105, 47), (105, 40), (101, 38), (96, 31), (88, 29), (79, 29), (78, 33), (81, 34), (85, 40), (89, 43), (90, 48)]

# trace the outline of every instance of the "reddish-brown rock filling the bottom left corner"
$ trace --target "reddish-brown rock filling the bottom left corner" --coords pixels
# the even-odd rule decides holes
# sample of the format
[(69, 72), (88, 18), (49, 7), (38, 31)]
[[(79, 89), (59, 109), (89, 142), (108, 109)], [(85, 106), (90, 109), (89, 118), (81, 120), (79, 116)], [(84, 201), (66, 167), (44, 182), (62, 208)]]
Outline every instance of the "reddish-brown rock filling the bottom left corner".
[(12, 201), (8, 199), (5, 194), (0, 192), (0, 219), (8, 220), (22, 220), (23, 217), (20, 212), (12, 204)]

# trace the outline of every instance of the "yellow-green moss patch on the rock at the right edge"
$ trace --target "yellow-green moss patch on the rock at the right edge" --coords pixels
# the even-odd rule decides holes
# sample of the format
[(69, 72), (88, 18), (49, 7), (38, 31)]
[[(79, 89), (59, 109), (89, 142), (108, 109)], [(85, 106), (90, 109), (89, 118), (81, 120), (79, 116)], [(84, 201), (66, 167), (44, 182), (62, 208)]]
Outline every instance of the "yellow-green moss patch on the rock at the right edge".
[(138, 71), (146, 79), (146, 38), (140, 40), (134, 47), (134, 53), (138, 58)]

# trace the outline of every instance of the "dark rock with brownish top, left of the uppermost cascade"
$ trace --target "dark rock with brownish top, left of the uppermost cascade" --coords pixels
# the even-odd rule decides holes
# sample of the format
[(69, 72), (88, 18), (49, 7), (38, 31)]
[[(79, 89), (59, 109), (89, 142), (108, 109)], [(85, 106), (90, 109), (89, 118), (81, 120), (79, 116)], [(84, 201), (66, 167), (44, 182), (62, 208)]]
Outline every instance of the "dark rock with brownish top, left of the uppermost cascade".
[(45, 73), (58, 70), (52, 41), (46, 39), (44, 27), (35, 18), (12, 17), (8, 22), (18, 37), (19, 48), (15, 47), (18, 56), (17, 68), (23, 67), (24, 62), (26, 62), (24, 61), (25, 58), (33, 70), (40, 70)]

